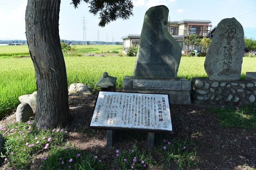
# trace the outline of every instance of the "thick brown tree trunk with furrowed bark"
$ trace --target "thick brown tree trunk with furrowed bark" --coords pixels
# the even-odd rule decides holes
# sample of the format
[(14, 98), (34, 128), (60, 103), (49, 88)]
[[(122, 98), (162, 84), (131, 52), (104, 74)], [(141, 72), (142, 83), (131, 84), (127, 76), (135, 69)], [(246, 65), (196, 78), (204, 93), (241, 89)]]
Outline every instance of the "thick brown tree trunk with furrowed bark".
[(34, 125), (67, 126), (68, 83), (59, 36), (60, 0), (28, 0), (26, 36), (36, 72), (37, 106)]

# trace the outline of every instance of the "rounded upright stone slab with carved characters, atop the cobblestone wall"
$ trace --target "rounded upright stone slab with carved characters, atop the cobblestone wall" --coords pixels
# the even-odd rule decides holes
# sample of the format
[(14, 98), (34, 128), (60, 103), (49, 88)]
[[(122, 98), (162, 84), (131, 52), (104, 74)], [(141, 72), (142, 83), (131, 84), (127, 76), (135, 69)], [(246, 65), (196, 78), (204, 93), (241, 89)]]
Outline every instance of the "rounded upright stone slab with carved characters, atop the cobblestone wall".
[(236, 18), (222, 19), (217, 25), (206, 54), (204, 69), (210, 80), (240, 80), (244, 30)]

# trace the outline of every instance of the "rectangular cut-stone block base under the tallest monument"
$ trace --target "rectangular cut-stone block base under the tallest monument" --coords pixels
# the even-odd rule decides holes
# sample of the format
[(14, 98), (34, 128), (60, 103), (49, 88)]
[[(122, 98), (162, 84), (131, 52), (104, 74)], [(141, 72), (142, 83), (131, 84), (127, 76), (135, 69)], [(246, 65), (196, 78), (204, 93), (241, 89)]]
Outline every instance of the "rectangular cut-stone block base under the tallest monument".
[(191, 104), (191, 83), (184, 78), (125, 76), (123, 92), (169, 94), (171, 104)]

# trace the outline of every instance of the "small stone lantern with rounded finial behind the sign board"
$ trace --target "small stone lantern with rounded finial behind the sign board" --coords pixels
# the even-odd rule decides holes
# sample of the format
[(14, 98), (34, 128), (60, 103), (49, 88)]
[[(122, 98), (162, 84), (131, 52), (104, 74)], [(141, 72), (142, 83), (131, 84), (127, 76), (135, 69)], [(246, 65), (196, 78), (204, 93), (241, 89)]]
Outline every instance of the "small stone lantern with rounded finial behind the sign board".
[(117, 77), (109, 76), (107, 72), (104, 72), (103, 77), (97, 82), (96, 87), (100, 87), (101, 91), (116, 92), (116, 79)]

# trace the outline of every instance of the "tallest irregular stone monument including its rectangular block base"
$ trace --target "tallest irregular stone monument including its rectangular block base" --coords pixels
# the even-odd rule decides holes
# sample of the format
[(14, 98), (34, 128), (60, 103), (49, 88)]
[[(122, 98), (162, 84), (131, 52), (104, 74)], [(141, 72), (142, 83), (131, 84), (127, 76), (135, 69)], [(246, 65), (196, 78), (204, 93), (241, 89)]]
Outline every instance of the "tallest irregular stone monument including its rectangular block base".
[(133, 76), (124, 92), (169, 94), (170, 103), (190, 104), (190, 81), (178, 78), (181, 47), (167, 30), (169, 10), (160, 5), (145, 14)]

